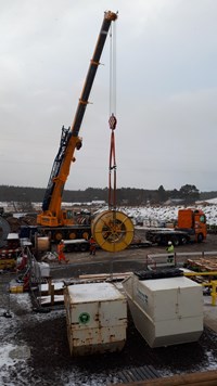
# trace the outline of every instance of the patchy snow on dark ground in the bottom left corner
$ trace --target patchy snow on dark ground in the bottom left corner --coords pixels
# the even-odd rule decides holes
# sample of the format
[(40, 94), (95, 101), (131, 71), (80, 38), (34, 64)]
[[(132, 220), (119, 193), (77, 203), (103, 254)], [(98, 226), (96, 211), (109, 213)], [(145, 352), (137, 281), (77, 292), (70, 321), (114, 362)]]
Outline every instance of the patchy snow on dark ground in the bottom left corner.
[[(86, 371), (86, 369), (82, 369), (81, 372), (80, 369), (73, 363), (67, 370), (61, 369), (61, 364), (58, 372), (56, 369), (52, 370), (52, 376), (56, 379), (55, 382), (52, 381), (52, 377), (49, 382), (49, 375), (46, 375), (43, 378), (41, 374), (36, 374), (35, 369), (28, 364), (28, 359), (31, 357), (34, 348), (23, 340), (23, 336), (21, 337), (23, 323), (30, 329), (35, 329), (36, 323), (43, 325), (44, 322), (49, 322), (50, 327), (53, 329), (53, 323), (56, 319), (65, 319), (65, 309), (60, 308), (52, 310), (49, 313), (37, 313), (33, 312), (33, 305), (28, 293), (11, 294), (10, 298), (10, 311), (12, 318), (8, 319), (3, 317), (3, 312), (8, 309), (8, 307), (4, 308), (2, 307), (2, 304), (0, 305), (0, 385), (24, 386), (37, 384), (46, 386), (104, 386), (107, 384), (106, 374), (98, 374), (94, 372), (90, 374)], [(5, 301), (5, 304), (8, 304), (8, 301)], [(16, 314), (13, 313), (12, 308), (16, 309)], [(28, 320), (27, 324), (26, 320)], [(60, 331), (58, 334), (60, 334)], [(36, 336), (36, 339), (37, 338), (38, 336)], [(43, 349), (46, 352), (48, 347), (43, 347)], [(56, 347), (53, 348), (53, 356), (60, 356), (59, 352), (56, 352)], [(48, 358), (46, 359), (46, 356), (44, 360), (48, 360)], [(44, 369), (48, 370), (46, 366)]]

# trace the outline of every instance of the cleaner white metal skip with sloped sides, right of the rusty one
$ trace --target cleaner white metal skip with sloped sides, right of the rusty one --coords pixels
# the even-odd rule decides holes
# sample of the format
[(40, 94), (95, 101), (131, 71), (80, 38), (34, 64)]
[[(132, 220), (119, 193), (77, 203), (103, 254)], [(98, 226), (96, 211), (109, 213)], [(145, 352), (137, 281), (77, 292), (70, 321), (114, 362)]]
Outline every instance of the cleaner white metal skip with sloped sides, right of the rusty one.
[(184, 276), (123, 282), (137, 330), (150, 345), (195, 342), (203, 332), (203, 288)]

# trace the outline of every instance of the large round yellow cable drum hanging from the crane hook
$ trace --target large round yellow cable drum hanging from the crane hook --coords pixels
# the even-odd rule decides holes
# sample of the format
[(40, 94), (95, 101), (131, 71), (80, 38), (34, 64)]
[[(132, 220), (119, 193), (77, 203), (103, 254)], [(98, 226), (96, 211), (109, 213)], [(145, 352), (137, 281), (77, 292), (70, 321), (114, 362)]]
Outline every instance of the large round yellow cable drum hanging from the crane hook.
[(106, 210), (99, 214), (91, 223), (97, 244), (107, 252), (126, 249), (133, 239), (133, 223), (123, 211)]

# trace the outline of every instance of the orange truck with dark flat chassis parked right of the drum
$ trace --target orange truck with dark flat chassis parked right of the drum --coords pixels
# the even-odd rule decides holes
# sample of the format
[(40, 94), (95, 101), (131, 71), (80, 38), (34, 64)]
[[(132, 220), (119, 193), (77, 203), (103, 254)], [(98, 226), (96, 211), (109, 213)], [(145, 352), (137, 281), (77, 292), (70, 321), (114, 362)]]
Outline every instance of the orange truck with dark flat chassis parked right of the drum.
[(179, 209), (177, 226), (174, 229), (152, 229), (146, 232), (146, 240), (153, 244), (175, 246), (191, 241), (201, 243), (206, 239), (206, 216), (201, 209)]

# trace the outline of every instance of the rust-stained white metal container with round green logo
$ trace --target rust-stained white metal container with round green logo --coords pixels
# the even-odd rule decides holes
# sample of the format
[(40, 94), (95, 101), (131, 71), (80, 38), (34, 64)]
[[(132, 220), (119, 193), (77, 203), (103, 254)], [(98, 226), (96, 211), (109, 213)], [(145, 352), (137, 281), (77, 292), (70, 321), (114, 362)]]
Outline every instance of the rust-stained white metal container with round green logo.
[(119, 351), (126, 342), (127, 300), (112, 283), (69, 285), (64, 292), (71, 355)]

